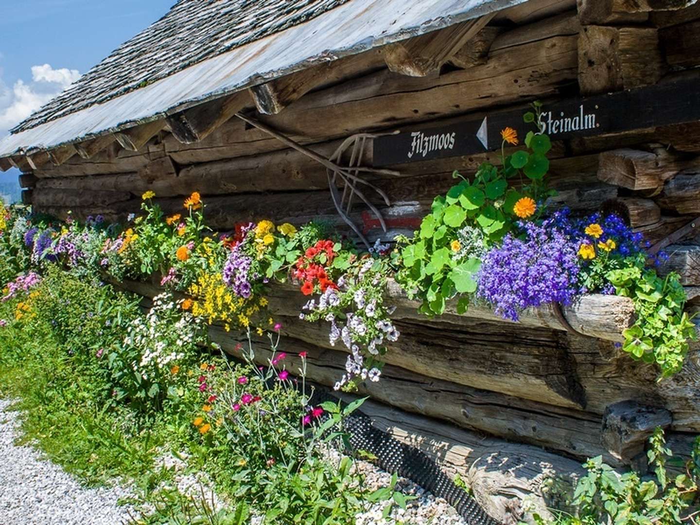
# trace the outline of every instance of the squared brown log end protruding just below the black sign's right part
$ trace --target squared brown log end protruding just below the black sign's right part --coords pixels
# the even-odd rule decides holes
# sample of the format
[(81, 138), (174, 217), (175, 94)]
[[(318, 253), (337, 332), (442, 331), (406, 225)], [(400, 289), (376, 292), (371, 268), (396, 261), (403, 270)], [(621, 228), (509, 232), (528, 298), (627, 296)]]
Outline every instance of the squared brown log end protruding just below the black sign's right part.
[(598, 179), (630, 190), (660, 191), (664, 182), (673, 179), (687, 164), (687, 160), (664, 148), (655, 151), (622, 148), (601, 153)]

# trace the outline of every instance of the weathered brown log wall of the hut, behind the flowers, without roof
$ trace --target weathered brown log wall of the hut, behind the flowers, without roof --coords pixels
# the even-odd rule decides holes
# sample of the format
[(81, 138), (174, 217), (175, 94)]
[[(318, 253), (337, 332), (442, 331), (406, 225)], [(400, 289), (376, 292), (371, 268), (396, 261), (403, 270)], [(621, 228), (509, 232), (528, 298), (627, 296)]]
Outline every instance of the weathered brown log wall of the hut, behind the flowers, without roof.
[[(647, 6), (632, 13), (618, 4), (528, 2), (499, 13), (479, 31), (473, 47), (467, 43), (452, 62), (426, 76), (391, 71), (380, 49), (340, 64), (325, 81), (314, 84), (307, 75), (303, 86), (310, 92), (304, 96), (285, 84), (274, 99), (268, 87), (265, 108), (274, 114), (258, 113), (256, 118), (327, 157), (357, 132), (446, 125), (524, 107), (535, 99), (547, 104), (695, 74), (688, 70), (698, 65), (698, 6)], [(282, 95), (290, 92), (297, 99), (285, 102)], [(260, 99), (245, 102), (244, 111), (255, 111), (256, 102), (260, 107)], [(168, 211), (180, 209), (183, 197), (197, 190), (207, 203), (208, 223), (221, 231), (262, 218), (299, 224), (320, 216), (341, 223), (325, 167), (264, 132), (232, 118), (202, 141), (183, 144), (170, 130), (166, 126), (155, 135), (149, 130), (153, 137), (138, 151), (112, 141), (83, 155), (89, 158), (73, 155), (59, 165), (25, 166), (20, 179), (27, 188), (25, 199), (58, 216), (70, 210), (78, 218), (103, 214), (120, 220), (139, 211), (146, 190), (153, 190)], [(666, 125), (555, 141), (550, 152), (551, 184), (559, 190), (555, 204), (578, 213), (612, 207), (652, 243), (663, 240), (700, 214), (699, 130), (696, 124)], [(390, 206), (381, 201), (377, 206), (386, 217), (400, 219), (389, 221), (390, 233), (410, 232), (433, 197), (452, 186), (454, 169), (469, 175), (481, 162), (497, 159), (479, 153), (414, 162), (391, 166), (398, 175), (368, 178), (391, 199)], [(364, 162), (371, 165), (371, 149)], [(353, 209), (352, 217), (370, 237), (386, 237), (362, 207)], [(693, 297), (694, 287), (700, 286), (698, 241), (692, 235), (675, 239), (666, 248), (671, 259), (662, 268), (680, 272)], [(143, 295), (158, 291), (148, 283), (124, 286)], [(617, 402), (633, 400), (670, 414), (670, 439), (680, 449), (687, 449), (692, 435), (700, 432), (700, 347), (692, 348), (682, 372), (657, 383), (654, 367), (615, 348), (629, 321), (624, 317), (629, 304), (587, 299), (591, 302), (566, 312), (567, 317), (583, 319), (580, 327), (597, 328), (572, 335), (546, 309), (528, 313), (521, 323), (505, 323), (478, 308), (468, 316), (452, 312), (429, 320), (416, 313), (416, 304), (395, 290), (392, 294), (402, 337), (386, 356), (383, 379), (363, 386), (363, 393), (384, 404), (370, 405), (370, 412), (378, 426), (405, 440), (422, 436), (416, 443), (447, 468), (468, 475), (481, 498), (487, 491), (477, 489), (479, 484), (503, 489), (507, 482), (500, 479), (494, 485), (493, 473), (480, 468), (480, 462), (509, 454), (507, 461), (517, 456), (540, 465), (521, 474), (530, 484), (527, 491), (540, 498), (541, 464), (547, 461), (564, 477), (575, 475), (582, 459), (598, 454), (617, 466), (643, 466), (639, 456), (630, 458), (606, 440), (606, 414)], [(286, 350), (307, 351), (309, 376), (332, 385), (342, 374), (346, 354), (328, 344), (328, 327), (298, 320), (302, 297), (291, 288), (274, 287), (270, 301), (272, 314), (284, 325)], [(627, 313), (620, 316), (621, 311)], [(235, 335), (216, 326), (211, 335), (235, 352)], [(294, 358), (292, 363), (295, 369)], [(643, 436), (649, 431), (638, 429)], [(498, 498), (507, 499), (507, 490), (501, 492)], [(496, 507), (500, 517), (510, 512), (506, 503)]]

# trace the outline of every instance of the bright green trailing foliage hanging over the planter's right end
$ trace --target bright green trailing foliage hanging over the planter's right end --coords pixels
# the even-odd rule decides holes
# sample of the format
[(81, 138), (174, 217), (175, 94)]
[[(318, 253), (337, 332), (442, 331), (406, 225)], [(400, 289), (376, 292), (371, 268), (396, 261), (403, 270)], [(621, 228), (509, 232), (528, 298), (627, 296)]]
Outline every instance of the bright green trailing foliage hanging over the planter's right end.
[(688, 339), (696, 337), (695, 325), (685, 306), (685, 291), (678, 274), (661, 278), (645, 268), (643, 256), (627, 258), (626, 267), (607, 274), (617, 295), (630, 297), (637, 314), (636, 323), (624, 330), (624, 351), (645, 363), (657, 363), (661, 378), (668, 377), (683, 365)]

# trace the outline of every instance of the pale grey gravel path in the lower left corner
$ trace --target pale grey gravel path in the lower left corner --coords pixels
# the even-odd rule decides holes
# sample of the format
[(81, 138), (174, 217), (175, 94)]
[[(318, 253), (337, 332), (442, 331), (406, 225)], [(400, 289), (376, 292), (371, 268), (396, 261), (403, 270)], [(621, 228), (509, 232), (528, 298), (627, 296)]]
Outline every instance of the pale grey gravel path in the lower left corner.
[(0, 525), (119, 525), (128, 514), (120, 487), (86, 489), (41, 453), (13, 444), (18, 412), (0, 399)]

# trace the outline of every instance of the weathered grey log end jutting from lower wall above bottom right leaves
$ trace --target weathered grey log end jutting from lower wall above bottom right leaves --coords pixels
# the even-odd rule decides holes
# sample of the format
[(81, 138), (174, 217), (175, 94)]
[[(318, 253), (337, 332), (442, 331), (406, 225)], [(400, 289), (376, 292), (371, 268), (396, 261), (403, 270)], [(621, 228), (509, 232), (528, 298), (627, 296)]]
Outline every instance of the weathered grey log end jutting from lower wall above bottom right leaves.
[(670, 426), (672, 421), (666, 409), (636, 401), (617, 402), (605, 409), (601, 441), (610, 454), (629, 463), (644, 451), (655, 428)]

